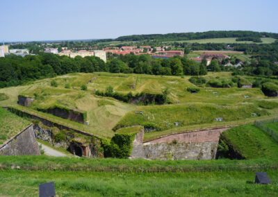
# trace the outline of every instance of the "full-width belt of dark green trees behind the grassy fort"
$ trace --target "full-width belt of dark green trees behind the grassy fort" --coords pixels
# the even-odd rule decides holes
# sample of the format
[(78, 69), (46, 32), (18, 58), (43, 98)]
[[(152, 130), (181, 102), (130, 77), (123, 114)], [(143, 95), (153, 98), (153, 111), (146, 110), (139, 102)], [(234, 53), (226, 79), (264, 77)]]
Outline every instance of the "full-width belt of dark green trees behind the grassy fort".
[(40, 55), (6, 55), (0, 58), (0, 88), (22, 85), (30, 80), (51, 78), (57, 75), (75, 72), (92, 73), (105, 71), (126, 74), (154, 74), (166, 76), (202, 76), (207, 71), (232, 71), (235, 75), (278, 76), (278, 65), (268, 60), (252, 60), (243, 62), (240, 67), (225, 66), (227, 62), (240, 62), (238, 59), (206, 60), (195, 62), (186, 57), (174, 56), (169, 59), (152, 58), (149, 55), (112, 56), (107, 63), (95, 56), (70, 58), (65, 55), (40, 53)]

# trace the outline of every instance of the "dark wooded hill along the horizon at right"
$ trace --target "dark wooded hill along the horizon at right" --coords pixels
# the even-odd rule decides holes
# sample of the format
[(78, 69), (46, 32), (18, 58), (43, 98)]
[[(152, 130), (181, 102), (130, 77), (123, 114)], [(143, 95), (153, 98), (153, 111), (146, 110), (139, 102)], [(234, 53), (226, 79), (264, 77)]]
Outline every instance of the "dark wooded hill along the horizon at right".
[[(140, 41), (140, 40), (199, 40), (208, 38), (240, 37), (253, 39), (261, 37), (272, 37), (278, 39), (278, 33), (255, 32), (255, 31), (206, 31), (197, 33), (167, 33), (167, 34), (148, 34), (148, 35), (126, 35), (117, 37), (116, 41)], [(243, 39), (244, 40), (244, 39)]]

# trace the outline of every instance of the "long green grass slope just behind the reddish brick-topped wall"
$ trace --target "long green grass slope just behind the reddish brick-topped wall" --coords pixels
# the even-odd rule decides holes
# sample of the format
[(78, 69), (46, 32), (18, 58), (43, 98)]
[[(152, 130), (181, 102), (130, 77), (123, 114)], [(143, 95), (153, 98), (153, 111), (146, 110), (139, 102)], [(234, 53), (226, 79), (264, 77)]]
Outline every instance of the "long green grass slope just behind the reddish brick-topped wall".
[[(142, 112), (140, 114), (138, 111)], [(216, 123), (215, 118), (223, 118), (223, 121), (235, 121), (246, 119), (256, 113), (258, 116), (267, 114), (265, 110), (259, 110), (254, 105), (204, 105), (204, 104), (183, 104), (183, 105), (162, 105), (142, 106), (127, 113), (116, 128), (122, 126), (152, 126), (157, 130), (166, 130), (179, 126), (190, 126), (195, 124)]]

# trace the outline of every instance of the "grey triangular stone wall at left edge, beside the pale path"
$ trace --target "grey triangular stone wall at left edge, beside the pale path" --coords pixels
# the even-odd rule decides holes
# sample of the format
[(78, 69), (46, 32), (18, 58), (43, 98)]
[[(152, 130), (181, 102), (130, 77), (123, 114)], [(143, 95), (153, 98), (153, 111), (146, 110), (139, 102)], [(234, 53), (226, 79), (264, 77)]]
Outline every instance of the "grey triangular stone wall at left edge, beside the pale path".
[(0, 155), (40, 155), (33, 125), (28, 126), (6, 144), (1, 145)]

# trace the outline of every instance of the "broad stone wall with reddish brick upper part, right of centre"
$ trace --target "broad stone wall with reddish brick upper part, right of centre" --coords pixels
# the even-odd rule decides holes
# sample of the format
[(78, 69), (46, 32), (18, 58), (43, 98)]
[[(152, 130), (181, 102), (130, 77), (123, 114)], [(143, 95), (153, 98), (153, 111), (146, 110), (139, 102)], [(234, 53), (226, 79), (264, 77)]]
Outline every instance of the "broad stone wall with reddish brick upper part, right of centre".
[(220, 133), (229, 128), (184, 132), (140, 143), (136, 135), (131, 158), (149, 160), (213, 160)]

